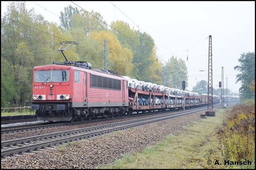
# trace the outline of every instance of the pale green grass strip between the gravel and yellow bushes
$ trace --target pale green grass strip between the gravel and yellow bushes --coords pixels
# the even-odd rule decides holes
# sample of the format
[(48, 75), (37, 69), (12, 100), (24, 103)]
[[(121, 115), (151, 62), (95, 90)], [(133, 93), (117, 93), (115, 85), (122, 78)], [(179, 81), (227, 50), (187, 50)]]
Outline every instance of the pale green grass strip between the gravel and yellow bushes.
[[(185, 127), (162, 142), (145, 148), (142, 152), (123, 155), (107, 169), (209, 169), (224, 168), (223, 165), (208, 165), (207, 160), (218, 160), (216, 128), (221, 126), (224, 110), (216, 111), (215, 117), (207, 117)], [(102, 168), (102, 167), (98, 167)]]

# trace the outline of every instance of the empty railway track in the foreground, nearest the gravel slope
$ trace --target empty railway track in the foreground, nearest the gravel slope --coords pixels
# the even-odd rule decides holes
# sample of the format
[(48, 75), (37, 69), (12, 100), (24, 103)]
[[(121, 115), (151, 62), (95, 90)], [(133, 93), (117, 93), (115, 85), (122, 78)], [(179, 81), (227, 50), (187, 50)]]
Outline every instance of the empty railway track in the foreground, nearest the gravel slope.
[[(4, 142), (1, 142), (1, 157), (16, 155), (19, 153), (32, 151), (32, 150), (38, 150), (38, 149), (41, 150), (40, 148), (60, 145), (64, 142), (71, 142), (74, 140), (82, 140), (82, 139), (90, 138), (93, 136), (110, 133), (116, 130), (123, 130), (126, 128), (137, 127), (137, 126), (141, 126), (141, 125), (145, 125), (145, 124), (149, 124), (149, 123), (153, 123), (161, 120), (174, 118), (177, 116), (199, 112), (205, 109), (206, 107), (197, 108), (197, 109), (178, 112), (178, 113), (157, 115), (157, 116), (151, 116), (151, 117), (146, 117), (146, 118), (141, 118), (136, 120), (99, 125), (95, 127), (80, 128), (80, 129), (38, 135), (33, 137), (27, 137), (22, 139), (16, 139), (11, 141), (4, 141)], [(36, 151), (33, 151), (33, 152), (36, 152)]]

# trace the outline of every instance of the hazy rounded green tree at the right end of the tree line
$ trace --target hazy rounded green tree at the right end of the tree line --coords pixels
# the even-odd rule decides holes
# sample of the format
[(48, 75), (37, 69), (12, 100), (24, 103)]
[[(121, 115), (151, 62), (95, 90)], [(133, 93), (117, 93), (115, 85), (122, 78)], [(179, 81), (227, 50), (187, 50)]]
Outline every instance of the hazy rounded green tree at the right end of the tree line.
[(188, 87), (188, 69), (185, 61), (181, 58), (171, 57), (163, 66), (163, 85), (182, 89), (181, 82), (185, 81)]

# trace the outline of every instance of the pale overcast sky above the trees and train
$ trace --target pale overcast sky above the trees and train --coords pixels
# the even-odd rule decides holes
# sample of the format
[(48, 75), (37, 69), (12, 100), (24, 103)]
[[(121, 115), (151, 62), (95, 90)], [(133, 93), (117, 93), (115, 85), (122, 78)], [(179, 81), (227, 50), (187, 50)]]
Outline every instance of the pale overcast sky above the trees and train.
[[(35, 4), (35, 3), (37, 4)], [(1, 15), (9, 1), (1, 1)], [(128, 22), (130, 27), (148, 33), (157, 45), (157, 55), (165, 63), (171, 56), (185, 60), (191, 90), (196, 82), (208, 81), (208, 36), (212, 35), (213, 87), (219, 88), (224, 67), (228, 88), (238, 92), (234, 67), (241, 53), (255, 52), (255, 1), (74, 1), (83, 9), (100, 13), (109, 25)], [(46, 20), (60, 25), (56, 15), (71, 1), (26, 1)], [(114, 7), (114, 5), (115, 7)], [(42, 8), (43, 7), (43, 8)], [(80, 7), (77, 8), (80, 10)], [(122, 14), (119, 10), (124, 14)], [(47, 9), (47, 10), (45, 10)], [(50, 12), (54, 13), (50, 13)], [(55, 15), (56, 14), (56, 15)], [(135, 25), (135, 24), (136, 25)], [(188, 50), (188, 51), (187, 51)], [(188, 61), (187, 61), (188, 55)], [(199, 71), (206, 70), (206, 71)], [(153, 82), (154, 83), (154, 82)]]

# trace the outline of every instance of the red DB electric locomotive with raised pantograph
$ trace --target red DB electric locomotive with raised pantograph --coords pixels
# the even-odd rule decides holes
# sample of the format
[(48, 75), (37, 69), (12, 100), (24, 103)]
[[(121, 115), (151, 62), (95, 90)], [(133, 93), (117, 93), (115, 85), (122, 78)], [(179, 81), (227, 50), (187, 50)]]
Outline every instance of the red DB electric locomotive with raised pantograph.
[[(61, 42), (65, 43), (75, 42)], [(128, 81), (107, 70), (92, 69), (87, 62), (66, 59), (37, 66), (33, 68), (32, 109), (38, 120), (45, 121), (127, 113)]]

